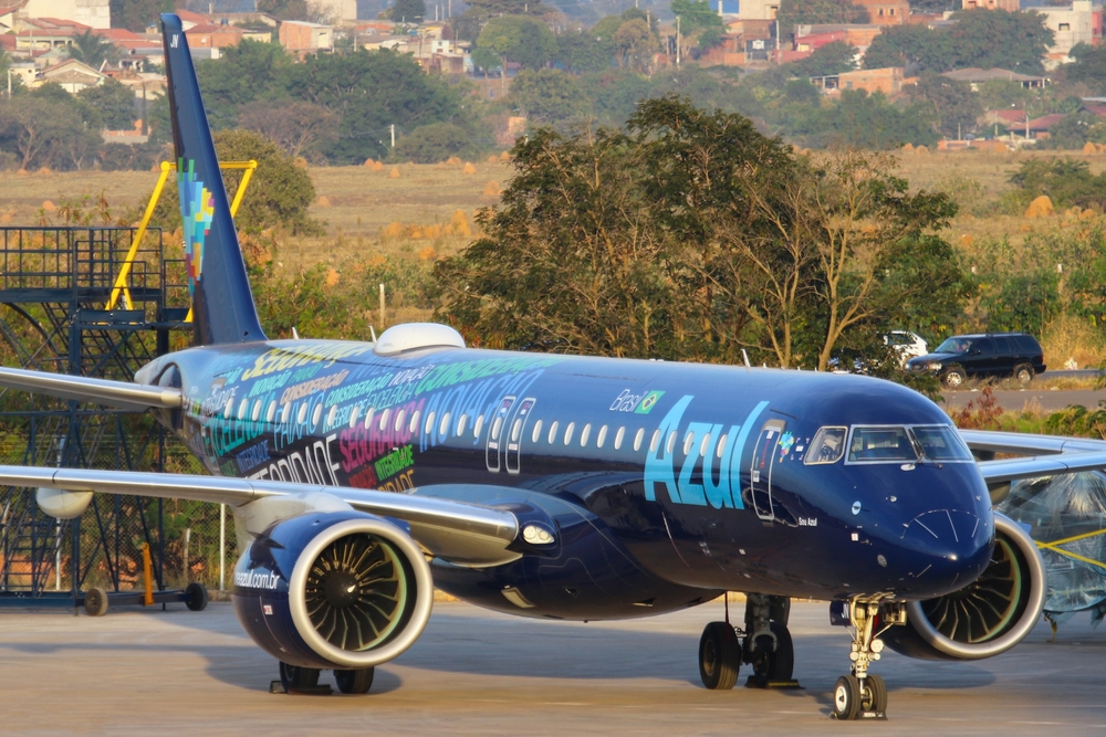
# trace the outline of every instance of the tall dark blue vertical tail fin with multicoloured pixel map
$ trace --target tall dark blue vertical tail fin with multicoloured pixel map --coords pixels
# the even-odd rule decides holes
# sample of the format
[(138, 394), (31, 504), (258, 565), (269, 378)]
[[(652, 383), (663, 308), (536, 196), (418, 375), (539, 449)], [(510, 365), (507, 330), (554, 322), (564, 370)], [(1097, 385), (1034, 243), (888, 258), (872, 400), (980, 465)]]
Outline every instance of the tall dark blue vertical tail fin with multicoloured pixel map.
[(264, 340), (180, 19), (161, 34), (196, 345)]

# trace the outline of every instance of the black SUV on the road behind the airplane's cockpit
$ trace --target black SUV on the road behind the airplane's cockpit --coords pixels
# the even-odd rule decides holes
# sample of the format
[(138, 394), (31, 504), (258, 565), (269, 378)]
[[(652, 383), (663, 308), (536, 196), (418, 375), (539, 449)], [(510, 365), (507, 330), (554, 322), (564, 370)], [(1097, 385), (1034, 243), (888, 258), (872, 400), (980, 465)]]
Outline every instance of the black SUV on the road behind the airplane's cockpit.
[(1041, 344), (1024, 333), (988, 333), (954, 335), (931, 352), (911, 358), (908, 371), (930, 371), (941, 377), (945, 386), (959, 387), (968, 377), (1014, 377), (1029, 383), (1044, 372)]

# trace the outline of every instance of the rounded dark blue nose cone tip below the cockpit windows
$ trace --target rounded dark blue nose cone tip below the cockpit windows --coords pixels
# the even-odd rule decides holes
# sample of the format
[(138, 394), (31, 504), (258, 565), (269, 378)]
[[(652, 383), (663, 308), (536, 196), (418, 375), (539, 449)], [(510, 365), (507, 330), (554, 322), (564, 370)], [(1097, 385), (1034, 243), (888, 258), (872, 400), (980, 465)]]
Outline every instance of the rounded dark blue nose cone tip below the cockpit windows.
[(901, 544), (910, 551), (908, 578), (926, 597), (962, 589), (991, 560), (994, 523), (974, 512), (933, 509), (909, 523)]

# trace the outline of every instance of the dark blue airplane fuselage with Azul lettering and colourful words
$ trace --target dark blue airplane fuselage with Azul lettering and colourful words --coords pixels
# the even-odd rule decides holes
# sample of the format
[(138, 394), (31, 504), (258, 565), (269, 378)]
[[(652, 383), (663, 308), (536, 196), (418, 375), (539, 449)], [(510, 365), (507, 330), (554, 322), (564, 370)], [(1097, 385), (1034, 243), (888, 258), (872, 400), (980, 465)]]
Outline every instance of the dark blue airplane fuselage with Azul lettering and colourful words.
[[(555, 555), (435, 567), (441, 588), (512, 613), (640, 615), (717, 590), (915, 600), (962, 588), (989, 561), (975, 464), (962, 445), (919, 451), (919, 439), (952, 442), (951, 423), (900, 386), (373, 348), (192, 348), (138, 380), (180, 386), (185, 409), (164, 421), (216, 474), (542, 507), (560, 528)], [(466, 499), (458, 484), (482, 491)]]

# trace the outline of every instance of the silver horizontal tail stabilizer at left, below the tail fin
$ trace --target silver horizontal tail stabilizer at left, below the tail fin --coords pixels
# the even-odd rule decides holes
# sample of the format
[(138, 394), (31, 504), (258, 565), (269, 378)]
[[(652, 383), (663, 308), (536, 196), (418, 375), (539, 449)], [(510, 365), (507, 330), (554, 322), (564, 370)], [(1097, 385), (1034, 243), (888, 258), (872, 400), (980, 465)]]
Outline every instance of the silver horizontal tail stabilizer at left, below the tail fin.
[(137, 412), (152, 407), (179, 409), (184, 401), (179, 389), (168, 387), (4, 367), (0, 367), (0, 387)]

